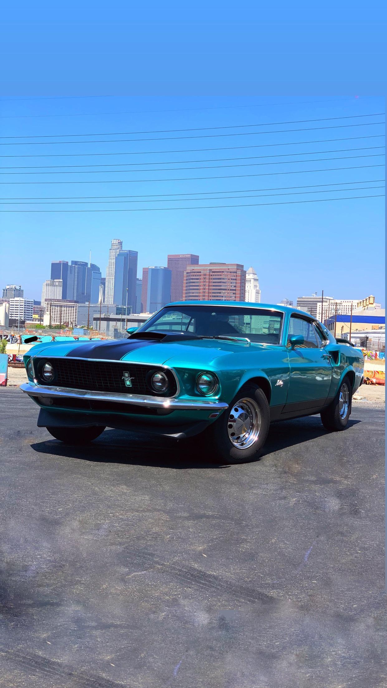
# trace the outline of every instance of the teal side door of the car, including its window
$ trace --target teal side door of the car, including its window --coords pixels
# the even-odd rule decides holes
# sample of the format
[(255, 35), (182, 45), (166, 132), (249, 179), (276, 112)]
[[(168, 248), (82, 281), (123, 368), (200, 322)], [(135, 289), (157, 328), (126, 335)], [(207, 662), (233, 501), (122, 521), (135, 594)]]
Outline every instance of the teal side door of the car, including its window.
[[(303, 336), (304, 343), (292, 347), (293, 335)], [(324, 405), (331, 387), (332, 365), (322, 336), (312, 320), (303, 315), (291, 315), (286, 343), (290, 380), (284, 412), (307, 413)]]

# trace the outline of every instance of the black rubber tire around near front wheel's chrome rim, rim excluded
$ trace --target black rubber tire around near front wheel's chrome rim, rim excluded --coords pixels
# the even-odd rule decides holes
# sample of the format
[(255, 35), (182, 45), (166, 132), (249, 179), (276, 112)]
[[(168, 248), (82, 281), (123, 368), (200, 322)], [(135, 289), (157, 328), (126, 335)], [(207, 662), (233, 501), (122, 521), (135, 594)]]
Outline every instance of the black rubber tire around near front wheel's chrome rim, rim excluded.
[[(260, 409), (261, 427), (258, 440), (249, 447), (249, 449), (238, 449), (231, 444), (229, 433), (227, 431), (227, 423), (232, 407), (241, 398), (250, 398), (255, 401)], [(240, 388), (238, 394), (233, 398), (229, 408), (222, 413), (222, 416), (216, 420), (209, 428), (211, 431), (210, 438), (212, 446), (209, 451), (214, 452), (218, 459), (226, 460), (233, 463), (244, 463), (258, 458), (264, 443), (266, 442), (267, 433), (269, 432), (270, 424), (270, 410), (269, 402), (262, 389), (254, 383), (248, 383)]]

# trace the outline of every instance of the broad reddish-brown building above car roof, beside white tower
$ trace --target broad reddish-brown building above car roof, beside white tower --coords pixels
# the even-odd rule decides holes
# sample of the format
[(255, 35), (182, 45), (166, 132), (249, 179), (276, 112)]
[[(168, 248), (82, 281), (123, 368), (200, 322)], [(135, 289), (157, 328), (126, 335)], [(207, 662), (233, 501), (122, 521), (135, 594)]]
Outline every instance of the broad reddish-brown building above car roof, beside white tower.
[(184, 274), (183, 301), (244, 301), (246, 271), (238, 263), (189, 265)]

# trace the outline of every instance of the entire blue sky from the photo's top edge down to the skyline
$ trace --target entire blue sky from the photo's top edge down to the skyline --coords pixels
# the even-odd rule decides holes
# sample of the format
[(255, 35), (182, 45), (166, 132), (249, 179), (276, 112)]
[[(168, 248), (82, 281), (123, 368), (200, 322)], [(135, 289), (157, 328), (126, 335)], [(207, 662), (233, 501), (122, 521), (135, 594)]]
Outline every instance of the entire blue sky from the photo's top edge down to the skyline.
[[(98, 1), (91, 5), (69, 0), (64, 10), (45, 1), (31, 5), (21, 0), (17, 7), (7, 6), (0, 36), (0, 58), (8, 67), (0, 83), (0, 136), (47, 136), (50, 141), (61, 140), (55, 135), (83, 133), (87, 136), (79, 140), (113, 141), (81, 143), (70, 136), (67, 143), (43, 144), (43, 138), (36, 138), (30, 143), (39, 144), (31, 145), (28, 139), (1, 139), (6, 143), (0, 146), (4, 168), (62, 166), (41, 170), (53, 173), (71, 171), (63, 168), (66, 164), (106, 165), (73, 168), (71, 174), (3, 169), (0, 181), (12, 184), (1, 184), (1, 198), (143, 199), (23, 205), (20, 208), (29, 212), (2, 213), (6, 259), (0, 263), (0, 286), (20, 282), (27, 296), (39, 298), (52, 259), (87, 260), (92, 248), (92, 260), (104, 271), (111, 239), (121, 238), (125, 248), (138, 250), (139, 275), (143, 266), (165, 265), (168, 252), (195, 252), (203, 262), (238, 261), (246, 268), (252, 264), (265, 301), (324, 289), (337, 298), (373, 292), (384, 303), (384, 198), (353, 197), (384, 193), (370, 187), (383, 186), (385, 177), (379, 166), (384, 151), (377, 148), (384, 145), (385, 127), (375, 124), (384, 120), (375, 114), (384, 112), (385, 99), (375, 94), (386, 91), (385, 34), (386, 5), (381, 2), (372, 7), (327, 2), (324, 12), (302, 1), (273, 7), (241, 1), (236, 7), (199, 0), (194, 8), (174, 1), (160, 5), (149, 0), (143, 7), (113, 1), (107, 8)], [(355, 117), (359, 115), (366, 117)], [(322, 121), (299, 121), (317, 119)], [(113, 134), (200, 127), (236, 128)], [(277, 131), (283, 129), (305, 131)], [(88, 136), (91, 133), (108, 136)], [(213, 136), (219, 133), (239, 135)], [(203, 138), (171, 140), (200, 135)], [(163, 136), (169, 140), (116, 141)], [(215, 148), (224, 150), (200, 150)], [(259, 158), (264, 155), (277, 157)], [(362, 155), (367, 157), (355, 157)], [(255, 160), (225, 160), (249, 156)], [(206, 162), (178, 162), (183, 160)], [(266, 162), (271, 164), (262, 164)], [(117, 163), (122, 165), (116, 169), (131, 171), (112, 172)], [(182, 170), (200, 166), (207, 169)], [(336, 167), (353, 169), (331, 169)], [(146, 171), (158, 168), (165, 169)], [(94, 173), (97, 169), (105, 171)], [(220, 176), (224, 178), (216, 179)], [(169, 178), (174, 180), (166, 181)], [(308, 188), (284, 188), (293, 186)], [(350, 188), (353, 191), (347, 191)], [(296, 191), (305, 193), (290, 195)], [(171, 202), (151, 203), (150, 194), (168, 194)], [(194, 194), (211, 200), (181, 201)], [(244, 198), (226, 200), (227, 195)], [(285, 204), (347, 196), (351, 198)], [(217, 197), (224, 201), (213, 200)], [(284, 204), (248, 206), (275, 202)], [(226, 204), (244, 207), (113, 212)], [(30, 212), (38, 208), (107, 211)]]

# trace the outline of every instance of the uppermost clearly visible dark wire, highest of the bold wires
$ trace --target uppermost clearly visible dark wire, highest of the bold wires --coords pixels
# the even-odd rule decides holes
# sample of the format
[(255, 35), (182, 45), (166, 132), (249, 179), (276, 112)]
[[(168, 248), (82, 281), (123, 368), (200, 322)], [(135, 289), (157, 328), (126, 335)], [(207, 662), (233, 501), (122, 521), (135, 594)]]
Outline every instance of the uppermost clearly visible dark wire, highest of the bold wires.
[(285, 122), (262, 122), (261, 124), (253, 125), (225, 125), (222, 127), (194, 127), (191, 129), (145, 129), (145, 131), (103, 131), (97, 133), (49, 133), (49, 134), (34, 134), (32, 136), (0, 136), (1, 138), (75, 138), (76, 136), (127, 136), (137, 133), (176, 133), (180, 131), (209, 131), (210, 129), (249, 129), (250, 127), (275, 127), (276, 125), (299, 125), (306, 122), (331, 122), (332, 120), (353, 120), (361, 117), (381, 117), (384, 112), (371, 112), (368, 115), (344, 115), (340, 117), (320, 117), (313, 120), (286, 120)]

